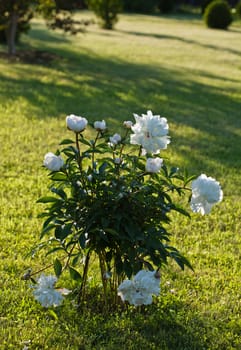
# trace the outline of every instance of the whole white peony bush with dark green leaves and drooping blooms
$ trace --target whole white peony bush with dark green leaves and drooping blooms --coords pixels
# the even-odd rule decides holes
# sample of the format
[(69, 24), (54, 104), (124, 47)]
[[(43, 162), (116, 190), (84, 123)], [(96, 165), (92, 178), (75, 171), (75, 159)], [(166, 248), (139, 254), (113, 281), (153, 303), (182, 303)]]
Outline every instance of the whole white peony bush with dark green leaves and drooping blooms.
[[(51, 195), (38, 200), (45, 205), (40, 248), (56, 256), (56, 278), (41, 275), (34, 287), (44, 307), (62, 303), (54, 284), (66, 271), (78, 284), (78, 305), (85, 303), (96, 257), (105, 308), (118, 301), (151, 304), (160, 294), (159, 271), (170, 259), (181, 269), (192, 268), (170, 243), (170, 214), (190, 217), (175, 202), (186, 194), (194, 213), (209, 214), (223, 198), (221, 186), (205, 174), (189, 176), (168, 166), (162, 155), (170, 143), (166, 118), (147, 111), (134, 119), (124, 121), (122, 133), (109, 134), (105, 120), (91, 125), (68, 115), (73, 140), (63, 140), (55, 154), (44, 157)], [(91, 126), (89, 140), (85, 129)]]

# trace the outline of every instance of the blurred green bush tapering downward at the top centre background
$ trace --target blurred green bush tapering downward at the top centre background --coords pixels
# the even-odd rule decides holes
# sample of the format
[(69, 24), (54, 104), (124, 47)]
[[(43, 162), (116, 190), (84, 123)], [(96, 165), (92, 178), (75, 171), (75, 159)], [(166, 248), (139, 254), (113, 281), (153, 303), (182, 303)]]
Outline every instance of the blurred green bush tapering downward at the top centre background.
[(104, 29), (112, 29), (118, 20), (118, 13), (122, 10), (121, 0), (89, 0), (88, 6), (100, 19)]

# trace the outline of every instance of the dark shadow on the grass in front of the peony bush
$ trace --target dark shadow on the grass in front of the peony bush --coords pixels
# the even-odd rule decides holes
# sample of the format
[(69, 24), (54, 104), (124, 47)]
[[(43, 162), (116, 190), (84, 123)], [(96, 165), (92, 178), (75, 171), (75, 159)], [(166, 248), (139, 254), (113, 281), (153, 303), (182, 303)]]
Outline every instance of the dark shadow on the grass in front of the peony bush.
[[(66, 310), (59, 317), (59, 332), (71, 330), (69, 344), (72, 342), (72, 349), (79, 350), (206, 349), (207, 330), (197, 315), (193, 314), (188, 319), (190, 310), (187, 311), (186, 305), (177, 300), (163, 301), (113, 313), (86, 310), (79, 316), (71, 313), (71, 317)], [(78, 339), (78, 347), (74, 334), (82, 335)]]

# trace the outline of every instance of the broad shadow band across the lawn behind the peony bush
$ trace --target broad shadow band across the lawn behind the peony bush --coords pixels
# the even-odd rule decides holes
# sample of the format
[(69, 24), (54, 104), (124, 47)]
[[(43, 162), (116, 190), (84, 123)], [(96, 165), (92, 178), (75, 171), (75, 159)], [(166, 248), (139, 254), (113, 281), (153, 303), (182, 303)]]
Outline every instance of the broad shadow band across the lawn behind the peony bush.
[[(214, 87), (197, 81), (203, 74), (200, 71), (105, 59), (91, 50), (56, 49), (51, 53), (59, 58), (49, 67), (35, 65), (30, 70), (29, 65), (16, 64), (11, 67), (14, 75), (0, 72), (3, 105), (24, 102), (22, 112), (28, 118), (62, 118), (74, 113), (90, 121), (106, 119), (111, 127), (119, 127), (132, 113), (151, 109), (175, 124), (170, 134), (180, 148), (177, 152), (188, 159), (185, 166), (209, 169), (211, 160), (210, 168), (213, 162), (223, 162), (240, 169), (240, 101), (234, 97), (240, 82), (235, 78), (233, 91), (227, 94), (221, 83)], [(208, 78), (220, 79), (211, 74)], [(184, 125), (192, 130), (189, 137), (181, 132), (176, 135)]]

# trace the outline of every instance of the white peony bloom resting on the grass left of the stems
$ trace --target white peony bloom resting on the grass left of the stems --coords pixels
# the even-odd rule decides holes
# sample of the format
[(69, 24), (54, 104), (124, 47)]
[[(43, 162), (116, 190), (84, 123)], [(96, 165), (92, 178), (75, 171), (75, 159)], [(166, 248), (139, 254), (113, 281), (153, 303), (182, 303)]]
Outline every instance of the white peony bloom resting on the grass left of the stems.
[(63, 301), (60, 292), (54, 289), (57, 281), (55, 276), (45, 276), (42, 274), (38, 279), (38, 285), (34, 286), (34, 297), (43, 307), (59, 306)]

